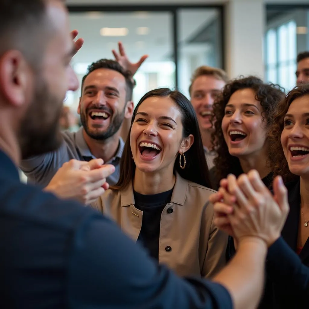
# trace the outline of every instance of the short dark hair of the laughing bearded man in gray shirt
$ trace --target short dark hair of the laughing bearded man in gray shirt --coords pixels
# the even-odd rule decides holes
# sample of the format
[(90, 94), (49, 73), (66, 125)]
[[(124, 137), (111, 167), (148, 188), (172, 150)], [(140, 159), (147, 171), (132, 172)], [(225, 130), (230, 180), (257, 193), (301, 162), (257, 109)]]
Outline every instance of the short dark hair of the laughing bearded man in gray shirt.
[(126, 101), (132, 100), (133, 79), (132, 79), (131, 72), (125, 71), (123, 67), (117, 61), (111, 60), (111, 59), (100, 59), (98, 61), (91, 63), (91, 65), (88, 66), (87, 73), (82, 79), (81, 95), (83, 95), (83, 85), (84, 85), (85, 79), (91, 72), (98, 70), (98, 69), (114, 70), (122, 74), (125, 78), (125, 83), (126, 83)]

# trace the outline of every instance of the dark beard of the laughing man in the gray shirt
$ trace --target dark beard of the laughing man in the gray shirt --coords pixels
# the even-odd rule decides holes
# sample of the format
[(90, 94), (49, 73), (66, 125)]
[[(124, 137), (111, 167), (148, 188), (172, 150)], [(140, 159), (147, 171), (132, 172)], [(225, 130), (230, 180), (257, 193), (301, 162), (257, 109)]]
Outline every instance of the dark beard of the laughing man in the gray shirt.
[[(103, 132), (92, 132), (87, 124), (87, 117), (89, 115), (89, 111), (91, 109), (95, 108), (96, 110), (101, 110), (101, 111), (106, 111), (109, 113), (110, 118), (111, 118), (111, 123), (108, 127), (108, 129), (106, 131)], [(85, 112), (82, 112), (80, 115), (80, 120), (82, 122), (82, 125), (84, 127), (85, 132), (87, 133), (87, 135), (95, 140), (98, 141), (104, 141), (107, 140), (108, 138), (112, 137), (113, 135), (115, 135), (123, 122), (123, 119), (125, 118), (125, 107), (123, 108), (123, 110), (119, 113), (119, 112), (115, 112), (113, 114), (112, 110), (110, 108), (108, 108), (107, 106), (89, 106)]]

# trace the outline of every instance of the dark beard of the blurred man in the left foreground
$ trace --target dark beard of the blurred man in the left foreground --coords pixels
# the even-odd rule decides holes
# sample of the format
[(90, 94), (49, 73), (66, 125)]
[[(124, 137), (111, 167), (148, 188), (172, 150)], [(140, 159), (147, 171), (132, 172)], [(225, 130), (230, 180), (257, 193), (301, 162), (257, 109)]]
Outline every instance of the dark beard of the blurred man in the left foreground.
[(19, 131), (22, 159), (41, 155), (60, 147), (62, 136), (59, 119), (63, 100), (49, 92), (41, 77), (36, 78), (32, 104), (23, 118)]

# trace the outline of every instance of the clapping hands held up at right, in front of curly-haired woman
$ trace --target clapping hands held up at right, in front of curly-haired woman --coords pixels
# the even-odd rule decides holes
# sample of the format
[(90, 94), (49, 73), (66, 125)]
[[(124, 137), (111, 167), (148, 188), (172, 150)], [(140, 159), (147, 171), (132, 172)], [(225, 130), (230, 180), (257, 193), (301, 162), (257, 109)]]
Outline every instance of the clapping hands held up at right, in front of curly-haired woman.
[(214, 224), (234, 238), (236, 249), (242, 239), (258, 238), (269, 248), (280, 237), (289, 212), (287, 189), (280, 176), (273, 181), (273, 193), (252, 170), (238, 179), (228, 175), (210, 196)]

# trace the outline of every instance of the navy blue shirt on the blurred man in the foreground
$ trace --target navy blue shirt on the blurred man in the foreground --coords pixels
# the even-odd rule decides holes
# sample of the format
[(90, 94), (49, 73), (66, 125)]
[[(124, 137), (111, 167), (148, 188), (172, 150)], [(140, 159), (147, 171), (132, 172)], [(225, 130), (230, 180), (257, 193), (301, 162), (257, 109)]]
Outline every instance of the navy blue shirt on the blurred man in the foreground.
[(21, 184), (0, 151), (2, 308), (232, 308), (227, 290), (180, 279), (115, 223)]

